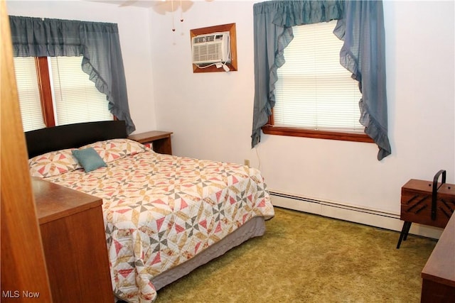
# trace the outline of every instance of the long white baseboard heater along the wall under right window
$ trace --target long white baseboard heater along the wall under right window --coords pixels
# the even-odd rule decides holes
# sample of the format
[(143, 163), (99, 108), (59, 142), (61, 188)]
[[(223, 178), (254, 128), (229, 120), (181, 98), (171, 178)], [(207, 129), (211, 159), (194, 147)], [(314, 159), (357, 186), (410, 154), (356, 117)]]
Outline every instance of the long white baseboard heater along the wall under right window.
[[(400, 214), (394, 214), (387, 211), (378, 211), (360, 206), (328, 202), (274, 190), (269, 190), (269, 194), (272, 199), (272, 204), (278, 207), (304, 211), (310, 214), (318, 214), (329, 218), (341, 219), (359, 224), (386, 228), (392, 231), (401, 231), (403, 224), (400, 220)], [(413, 233), (414, 235), (426, 236), (429, 238), (439, 238), (441, 235), (440, 228), (432, 228), (417, 224), (415, 225), (416, 226), (412, 226), (410, 231), (410, 233)]]

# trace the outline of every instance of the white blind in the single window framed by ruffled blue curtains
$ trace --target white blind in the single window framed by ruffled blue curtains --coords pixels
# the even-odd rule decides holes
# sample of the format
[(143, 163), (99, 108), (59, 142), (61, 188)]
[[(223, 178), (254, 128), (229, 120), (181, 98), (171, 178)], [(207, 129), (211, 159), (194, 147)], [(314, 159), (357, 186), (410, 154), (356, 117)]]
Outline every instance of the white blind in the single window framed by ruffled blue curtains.
[(358, 82), (340, 64), (343, 41), (336, 21), (294, 26), (278, 69), (274, 125), (315, 130), (361, 131)]

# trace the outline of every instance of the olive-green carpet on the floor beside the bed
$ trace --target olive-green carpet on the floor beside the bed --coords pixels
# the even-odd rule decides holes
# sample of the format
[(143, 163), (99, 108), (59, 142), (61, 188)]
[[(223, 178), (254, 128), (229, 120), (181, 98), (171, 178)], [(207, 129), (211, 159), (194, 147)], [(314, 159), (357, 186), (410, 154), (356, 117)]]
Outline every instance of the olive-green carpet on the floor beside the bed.
[(158, 292), (165, 302), (419, 302), (437, 241), (275, 208), (252, 238)]

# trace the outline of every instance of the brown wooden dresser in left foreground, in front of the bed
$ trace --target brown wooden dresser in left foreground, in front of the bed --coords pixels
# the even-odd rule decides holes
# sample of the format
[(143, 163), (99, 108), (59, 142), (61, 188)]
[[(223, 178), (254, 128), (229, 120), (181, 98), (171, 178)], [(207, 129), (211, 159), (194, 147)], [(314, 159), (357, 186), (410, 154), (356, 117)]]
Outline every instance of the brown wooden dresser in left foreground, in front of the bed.
[(114, 302), (102, 199), (32, 178), (53, 302)]

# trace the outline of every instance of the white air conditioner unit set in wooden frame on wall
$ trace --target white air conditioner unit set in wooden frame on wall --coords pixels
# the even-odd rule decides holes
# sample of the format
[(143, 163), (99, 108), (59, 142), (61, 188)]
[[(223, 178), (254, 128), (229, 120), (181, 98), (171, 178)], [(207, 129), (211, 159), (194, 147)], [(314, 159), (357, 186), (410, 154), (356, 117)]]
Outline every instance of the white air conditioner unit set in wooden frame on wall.
[(230, 62), (229, 32), (196, 35), (191, 39), (193, 64)]

